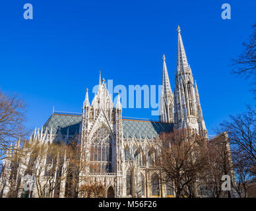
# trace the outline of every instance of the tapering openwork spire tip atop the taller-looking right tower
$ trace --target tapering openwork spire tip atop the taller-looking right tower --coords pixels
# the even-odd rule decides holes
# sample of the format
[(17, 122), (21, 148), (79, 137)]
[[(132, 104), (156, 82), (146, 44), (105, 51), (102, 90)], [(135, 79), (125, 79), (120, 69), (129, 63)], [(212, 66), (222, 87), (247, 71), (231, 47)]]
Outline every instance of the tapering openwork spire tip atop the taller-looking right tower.
[(181, 30), (179, 26), (177, 26), (177, 73), (189, 69), (189, 65), (187, 63), (187, 56), (185, 53), (185, 48), (182, 42), (180, 32)]

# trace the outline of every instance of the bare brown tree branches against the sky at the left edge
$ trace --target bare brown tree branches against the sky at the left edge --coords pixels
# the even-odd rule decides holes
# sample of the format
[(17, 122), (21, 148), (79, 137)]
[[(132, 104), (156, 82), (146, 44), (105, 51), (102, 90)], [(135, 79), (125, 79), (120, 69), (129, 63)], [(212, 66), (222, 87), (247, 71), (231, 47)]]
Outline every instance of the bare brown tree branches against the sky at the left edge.
[(10, 149), (12, 140), (24, 133), (24, 102), (15, 94), (5, 94), (0, 90), (0, 160)]

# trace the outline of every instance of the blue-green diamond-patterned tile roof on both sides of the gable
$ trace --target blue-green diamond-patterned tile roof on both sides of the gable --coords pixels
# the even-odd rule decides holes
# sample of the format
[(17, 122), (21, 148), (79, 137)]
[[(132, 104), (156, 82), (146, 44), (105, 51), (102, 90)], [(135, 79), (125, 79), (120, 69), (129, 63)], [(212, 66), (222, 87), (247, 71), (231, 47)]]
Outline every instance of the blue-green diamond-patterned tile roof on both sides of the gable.
[[(70, 114), (60, 114), (53, 113), (44, 124), (44, 131), (46, 127), (48, 131), (53, 129), (53, 134), (61, 132), (63, 135), (67, 135), (67, 128), (69, 128), (69, 135), (75, 135), (79, 133), (80, 122), (82, 121), (81, 115), (70, 115)], [(168, 123), (159, 123), (155, 121), (141, 121), (134, 119), (123, 119), (123, 137), (132, 138), (156, 138), (162, 132), (172, 132), (174, 125)]]

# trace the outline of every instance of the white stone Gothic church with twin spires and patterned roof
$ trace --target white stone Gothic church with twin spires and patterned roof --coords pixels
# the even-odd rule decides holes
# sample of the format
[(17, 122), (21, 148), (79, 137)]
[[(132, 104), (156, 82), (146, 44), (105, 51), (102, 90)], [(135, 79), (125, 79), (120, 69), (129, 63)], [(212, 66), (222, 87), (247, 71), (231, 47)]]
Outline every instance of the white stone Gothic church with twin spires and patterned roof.
[[(163, 56), (159, 121), (145, 121), (122, 117), (119, 94), (114, 106), (106, 81), (100, 76), (92, 102), (86, 89), (82, 115), (53, 111), (41, 131), (35, 129), (30, 141), (67, 142), (79, 137), (81, 159), (90, 164), (80, 177), (89, 176), (104, 185), (106, 197), (175, 196), (170, 185), (159, 183), (160, 175), (152, 166), (154, 156), (150, 154), (150, 146), (160, 133), (170, 133), (174, 128), (190, 128), (207, 137), (197, 83), (187, 61), (179, 26), (175, 86), (173, 92)], [(5, 160), (5, 166), (8, 165)], [(19, 171), (21, 177), (22, 173)], [(4, 175), (1, 175), (2, 181)], [(59, 197), (65, 197), (65, 184), (60, 190)], [(8, 191), (7, 186), (3, 187), (3, 196)], [(32, 196), (37, 197), (35, 188)]]

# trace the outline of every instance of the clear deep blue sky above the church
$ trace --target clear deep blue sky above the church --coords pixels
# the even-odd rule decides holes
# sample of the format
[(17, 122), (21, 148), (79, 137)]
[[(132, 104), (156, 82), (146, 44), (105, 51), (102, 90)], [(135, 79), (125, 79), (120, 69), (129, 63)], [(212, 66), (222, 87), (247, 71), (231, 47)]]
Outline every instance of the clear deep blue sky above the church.
[[(25, 3), (32, 3), (34, 20), (24, 20)], [(222, 20), (222, 3), (230, 3), (231, 20)], [(42, 127), (53, 106), (81, 112), (99, 69), (114, 85), (158, 85), (165, 53), (174, 88), (179, 24), (212, 134), (229, 114), (255, 104), (249, 82), (230, 75), (229, 67), (252, 32), (255, 9), (251, 0), (3, 1), (0, 88), (25, 100), (30, 129)], [(151, 110), (123, 109), (123, 115), (152, 118)]]

